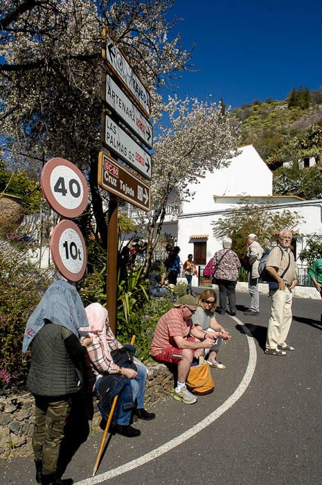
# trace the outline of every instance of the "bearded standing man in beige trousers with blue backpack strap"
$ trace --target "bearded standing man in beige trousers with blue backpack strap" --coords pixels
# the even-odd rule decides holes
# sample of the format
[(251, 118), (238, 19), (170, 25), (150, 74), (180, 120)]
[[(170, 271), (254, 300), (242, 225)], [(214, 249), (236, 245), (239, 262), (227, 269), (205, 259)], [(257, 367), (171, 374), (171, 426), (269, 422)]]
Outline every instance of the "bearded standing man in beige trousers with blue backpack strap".
[(290, 249), (292, 232), (282, 229), (279, 243), (269, 252), (266, 272), (269, 274), (269, 295), (271, 297), (271, 317), (267, 328), (265, 353), (286, 355), (294, 347), (285, 341), (292, 323), (292, 290), (297, 285), (296, 265)]

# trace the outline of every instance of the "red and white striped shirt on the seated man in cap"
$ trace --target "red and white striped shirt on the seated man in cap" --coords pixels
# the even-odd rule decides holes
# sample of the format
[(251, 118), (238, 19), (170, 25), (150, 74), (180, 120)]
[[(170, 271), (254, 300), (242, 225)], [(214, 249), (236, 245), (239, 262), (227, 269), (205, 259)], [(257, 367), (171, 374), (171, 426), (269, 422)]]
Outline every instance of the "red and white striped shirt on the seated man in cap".
[(181, 308), (172, 308), (166, 312), (156, 324), (151, 345), (151, 355), (158, 355), (163, 349), (169, 346), (177, 347), (173, 337), (188, 337), (193, 321), (189, 319), (188, 324), (184, 321)]

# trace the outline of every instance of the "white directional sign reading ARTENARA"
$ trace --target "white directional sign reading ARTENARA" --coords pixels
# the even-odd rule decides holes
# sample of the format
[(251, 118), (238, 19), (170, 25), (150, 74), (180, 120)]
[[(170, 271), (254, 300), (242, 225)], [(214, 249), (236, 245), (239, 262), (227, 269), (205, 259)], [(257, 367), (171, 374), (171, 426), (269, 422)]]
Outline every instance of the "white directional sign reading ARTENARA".
[(138, 111), (132, 100), (126, 96), (108, 74), (105, 76), (105, 101), (127, 124), (129, 129), (147, 145), (147, 148), (152, 148), (151, 123)]

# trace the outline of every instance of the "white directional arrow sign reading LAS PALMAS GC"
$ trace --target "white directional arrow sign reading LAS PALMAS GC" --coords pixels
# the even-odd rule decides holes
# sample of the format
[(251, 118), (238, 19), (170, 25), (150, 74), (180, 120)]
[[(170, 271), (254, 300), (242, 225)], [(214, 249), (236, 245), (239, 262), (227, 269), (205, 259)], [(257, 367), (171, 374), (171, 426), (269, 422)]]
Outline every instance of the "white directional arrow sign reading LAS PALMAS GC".
[(103, 114), (102, 143), (118, 157), (138, 170), (143, 177), (151, 179), (151, 156), (131, 136), (118, 126), (107, 114)]

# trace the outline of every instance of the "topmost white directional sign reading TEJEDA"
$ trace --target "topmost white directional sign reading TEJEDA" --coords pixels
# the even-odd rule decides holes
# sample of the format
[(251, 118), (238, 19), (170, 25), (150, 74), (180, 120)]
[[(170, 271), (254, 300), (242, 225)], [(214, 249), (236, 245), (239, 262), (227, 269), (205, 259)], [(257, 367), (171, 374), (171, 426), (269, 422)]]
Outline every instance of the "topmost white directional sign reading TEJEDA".
[(123, 82), (125, 87), (131, 91), (142, 109), (150, 116), (150, 94), (134, 73), (125, 56), (120, 53), (114, 42), (105, 35), (106, 47), (102, 50), (103, 59), (107, 62), (113, 73)]

